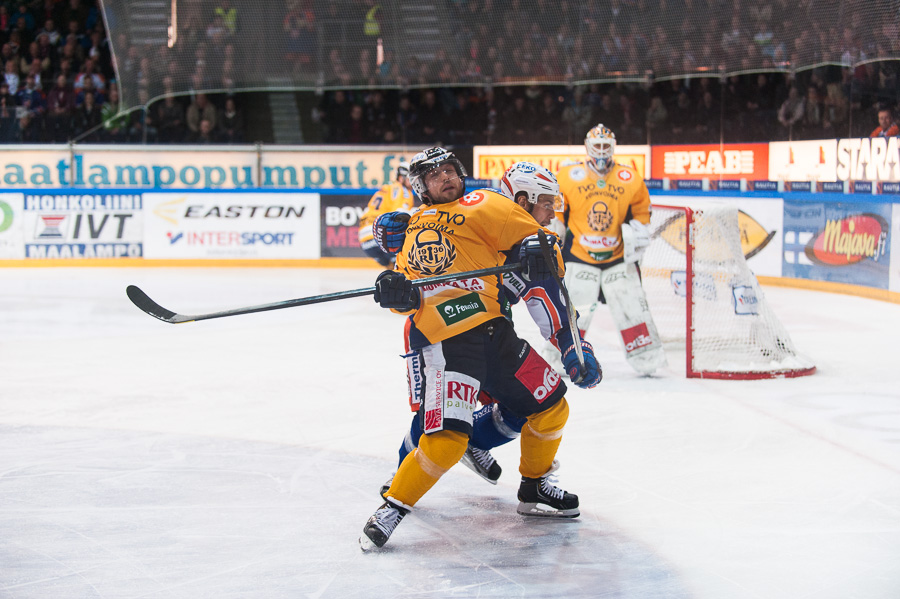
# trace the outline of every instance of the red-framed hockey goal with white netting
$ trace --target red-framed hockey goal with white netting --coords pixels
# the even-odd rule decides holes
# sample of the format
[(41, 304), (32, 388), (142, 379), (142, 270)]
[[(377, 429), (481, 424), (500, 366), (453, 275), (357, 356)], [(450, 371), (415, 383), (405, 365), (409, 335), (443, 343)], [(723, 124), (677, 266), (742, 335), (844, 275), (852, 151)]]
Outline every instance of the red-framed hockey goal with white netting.
[(761, 379), (805, 376), (797, 354), (741, 249), (729, 205), (654, 205), (641, 260), (650, 312), (667, 348), (686, 353), (687, 376)]

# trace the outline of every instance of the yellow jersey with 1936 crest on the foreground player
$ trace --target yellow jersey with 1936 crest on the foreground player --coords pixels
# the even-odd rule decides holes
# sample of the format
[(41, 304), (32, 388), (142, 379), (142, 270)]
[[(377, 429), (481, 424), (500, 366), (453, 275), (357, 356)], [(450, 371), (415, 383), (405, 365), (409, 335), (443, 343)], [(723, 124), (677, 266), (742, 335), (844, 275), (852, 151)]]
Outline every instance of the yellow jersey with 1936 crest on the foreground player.
[[(542, 227), (515, 202), (478, 189), (454, 202), (422, 206), (409, 221), (396, 269), (408, 279), (480, 270), (504, 264), (504, 251)], [(549, 235), (553, 233), (544, 228)], [(564, 272), (557, 252), (557, 267)], [(502, 276), (462, 279), (419, 289), (411, 313), (410, 347), (425, 347), (504, 316)]]

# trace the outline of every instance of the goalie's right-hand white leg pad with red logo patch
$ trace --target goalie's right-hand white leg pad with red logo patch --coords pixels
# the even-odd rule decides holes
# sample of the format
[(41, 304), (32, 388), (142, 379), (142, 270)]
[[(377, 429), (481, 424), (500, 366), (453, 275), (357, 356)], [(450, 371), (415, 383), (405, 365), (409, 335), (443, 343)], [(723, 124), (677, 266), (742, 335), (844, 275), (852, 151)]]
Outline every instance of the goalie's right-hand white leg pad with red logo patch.
[(650, 314), (647, 296), (634, 263), (617, 264), (603, 271), (603, 295), (619, 329), (625, 359), (641, 374), (666, 366), (662, 340)]

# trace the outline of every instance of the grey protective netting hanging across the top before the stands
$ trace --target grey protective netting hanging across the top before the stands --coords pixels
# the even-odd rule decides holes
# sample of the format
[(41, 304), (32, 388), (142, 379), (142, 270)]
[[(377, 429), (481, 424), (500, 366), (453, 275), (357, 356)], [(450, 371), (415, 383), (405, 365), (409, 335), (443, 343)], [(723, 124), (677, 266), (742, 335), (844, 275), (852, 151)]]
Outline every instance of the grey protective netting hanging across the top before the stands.
[(587, 84), (900, 59), (900, 0), (101, 0), (124, 109), (192, 91)]

